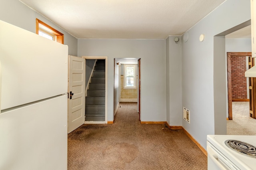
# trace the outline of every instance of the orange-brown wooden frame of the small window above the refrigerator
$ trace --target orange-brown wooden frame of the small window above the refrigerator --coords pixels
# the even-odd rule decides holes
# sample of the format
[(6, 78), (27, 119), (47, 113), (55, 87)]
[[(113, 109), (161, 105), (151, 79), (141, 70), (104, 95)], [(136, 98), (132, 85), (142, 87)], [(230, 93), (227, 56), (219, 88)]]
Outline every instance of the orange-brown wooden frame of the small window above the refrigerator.
[(52, 36), (52, 35), (56, 36), (55, 41), (64, 44), (64, 34), (59, 32), (58, 30), (55, 30), (51, 26), (45, 24), (44, 22), (36, 18), (36, 34), (39, 34), (39, 31), (41, 30), (44, 30), (42, 32), (44, 32), (45, 34), (48, 34), (49, 36)]

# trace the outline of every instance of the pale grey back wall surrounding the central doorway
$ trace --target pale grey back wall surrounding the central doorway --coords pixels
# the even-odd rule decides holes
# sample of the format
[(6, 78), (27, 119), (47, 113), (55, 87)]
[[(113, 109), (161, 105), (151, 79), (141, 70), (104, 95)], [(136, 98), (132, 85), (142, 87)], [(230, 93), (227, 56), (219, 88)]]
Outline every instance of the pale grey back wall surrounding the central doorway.
[(141, 58), (141, 121), (166, 121), (165, 40), (78, 39), (78, 56), (108, 56), (108, 121), (113, 121), (114, 58)]

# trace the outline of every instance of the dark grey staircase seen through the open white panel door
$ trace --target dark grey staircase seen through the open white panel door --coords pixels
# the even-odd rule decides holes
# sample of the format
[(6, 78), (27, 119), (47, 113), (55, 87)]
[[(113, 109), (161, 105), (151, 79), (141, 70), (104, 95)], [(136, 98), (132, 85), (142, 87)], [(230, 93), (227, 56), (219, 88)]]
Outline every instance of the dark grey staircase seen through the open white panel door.
[(87, 90), (85, 121), (105, 121), (105, 60), (98, 59)]

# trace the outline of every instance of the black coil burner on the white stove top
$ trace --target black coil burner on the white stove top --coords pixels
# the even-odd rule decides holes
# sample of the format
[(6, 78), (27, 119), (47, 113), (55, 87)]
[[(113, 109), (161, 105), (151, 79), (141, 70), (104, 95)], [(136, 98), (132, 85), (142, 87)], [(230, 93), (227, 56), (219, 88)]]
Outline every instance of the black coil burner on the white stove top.
[(256, 147), (252, 144), (248, 144), (240, 140), (226, 140), (225, 144), (229, 148), (232, 148), (241, 154), (256, 158)]

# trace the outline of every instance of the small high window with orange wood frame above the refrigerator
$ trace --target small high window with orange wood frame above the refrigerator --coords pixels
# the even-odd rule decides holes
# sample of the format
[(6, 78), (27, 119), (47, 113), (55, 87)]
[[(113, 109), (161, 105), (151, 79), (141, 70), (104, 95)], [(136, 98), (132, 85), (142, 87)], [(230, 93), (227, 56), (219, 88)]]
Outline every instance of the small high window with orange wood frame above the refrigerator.
[(36, 34), (64, 44), (64, 34), (36, 18)]

